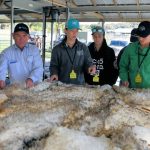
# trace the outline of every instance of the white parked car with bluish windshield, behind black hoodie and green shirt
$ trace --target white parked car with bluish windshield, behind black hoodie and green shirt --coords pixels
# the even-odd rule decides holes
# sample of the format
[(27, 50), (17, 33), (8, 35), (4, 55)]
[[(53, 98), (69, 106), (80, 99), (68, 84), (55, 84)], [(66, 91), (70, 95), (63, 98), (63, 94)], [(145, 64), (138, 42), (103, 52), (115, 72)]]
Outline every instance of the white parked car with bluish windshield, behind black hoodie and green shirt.
[(129, 41), (125, 40), (112, 40), (110, 42), (110, 47), (114, 49), (115, 55), (118, 56), (120, 50), (127, 46), (129, 44)]

